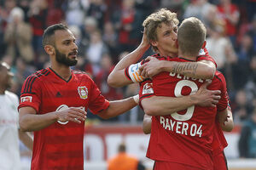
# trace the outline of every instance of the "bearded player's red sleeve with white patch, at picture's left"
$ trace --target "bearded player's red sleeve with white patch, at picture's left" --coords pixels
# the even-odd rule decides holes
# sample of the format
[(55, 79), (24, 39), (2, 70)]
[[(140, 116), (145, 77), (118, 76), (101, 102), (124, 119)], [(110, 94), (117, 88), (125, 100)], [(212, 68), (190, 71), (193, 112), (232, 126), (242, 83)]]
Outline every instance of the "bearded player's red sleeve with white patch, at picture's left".
[(23, 83), (21, 88), (20, 105), (18, 106), (18, 110), (21, 107), (30, 106), (38, 112), (39, 105), (41, 104), (40, 99), (42, 97), (41, 84), (42, 83), (40, 83), (36, 74), (26, 78), (26, 81)]

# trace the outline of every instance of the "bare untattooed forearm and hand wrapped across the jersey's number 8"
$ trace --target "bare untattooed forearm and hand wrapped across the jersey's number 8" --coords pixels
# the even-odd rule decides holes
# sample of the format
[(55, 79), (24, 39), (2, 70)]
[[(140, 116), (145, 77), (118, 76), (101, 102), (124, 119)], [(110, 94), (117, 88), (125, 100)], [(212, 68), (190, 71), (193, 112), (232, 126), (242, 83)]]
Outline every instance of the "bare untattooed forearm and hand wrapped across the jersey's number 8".
[(178, 98), (152, 96), (142, 99), (144, 112), (148, 116), (166, 116), (177, 111), (183, 111), (192, 105), (215, 107), (220, 99), (219, 90), (208, 90), (210, 82), (205, 82), (195, 93)]

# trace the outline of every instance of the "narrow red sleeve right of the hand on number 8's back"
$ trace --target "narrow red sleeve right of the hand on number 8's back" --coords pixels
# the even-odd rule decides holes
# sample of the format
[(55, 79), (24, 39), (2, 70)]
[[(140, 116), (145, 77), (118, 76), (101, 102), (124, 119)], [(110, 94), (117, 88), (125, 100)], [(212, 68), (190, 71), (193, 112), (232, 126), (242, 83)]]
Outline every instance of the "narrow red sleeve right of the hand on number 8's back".
[(221, 83), (221, 98), (218, 100), (217, 111), (224, 111), (229, 105), (229, 95), (227, 92), (227, 85), (223, 74), (219, 73), (216, 75)]

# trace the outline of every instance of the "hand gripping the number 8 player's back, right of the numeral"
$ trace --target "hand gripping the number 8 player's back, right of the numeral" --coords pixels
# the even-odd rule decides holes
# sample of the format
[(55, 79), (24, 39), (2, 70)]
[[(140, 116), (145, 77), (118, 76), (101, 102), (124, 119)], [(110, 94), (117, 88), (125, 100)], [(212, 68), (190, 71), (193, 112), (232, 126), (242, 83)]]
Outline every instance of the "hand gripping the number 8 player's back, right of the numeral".
[(207, 86), (211, 84), (212, 81), (204, 82), (201, 88), (196, 92), (195, 98), (198, 100), (197, 105), (204, 107), (210, 106), (215, 107), (220, 99), (220, 90), (208, 90)]

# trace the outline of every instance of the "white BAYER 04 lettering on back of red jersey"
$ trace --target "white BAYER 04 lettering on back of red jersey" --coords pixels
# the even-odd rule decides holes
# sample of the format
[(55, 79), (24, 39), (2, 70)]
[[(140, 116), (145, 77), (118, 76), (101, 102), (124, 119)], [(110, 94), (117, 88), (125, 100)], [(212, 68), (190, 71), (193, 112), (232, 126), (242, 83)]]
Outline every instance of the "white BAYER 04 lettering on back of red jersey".
[(186, 136), (198, 136), (201, 138), (202, 125), (197, 125), (195, 123), (189, 124), (188, 122), (178, 122), (164, 116), (160, 116), (160, 124), (166, 129), (174, 133), (183, 134)]

